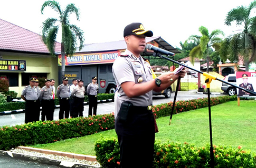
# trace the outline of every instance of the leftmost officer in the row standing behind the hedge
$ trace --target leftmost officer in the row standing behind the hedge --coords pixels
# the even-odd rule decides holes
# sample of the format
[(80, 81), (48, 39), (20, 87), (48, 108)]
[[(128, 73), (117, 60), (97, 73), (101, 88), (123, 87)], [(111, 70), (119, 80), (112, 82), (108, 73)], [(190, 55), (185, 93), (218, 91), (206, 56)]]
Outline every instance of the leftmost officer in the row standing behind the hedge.
[(21, 98), (26, 101), (25, 103), (25, 123), (39, 121), (40, 118), (40, 90), (35, 87), (36, 78), (30, 78), (30, 85), (26, 86), (22, 93)]

